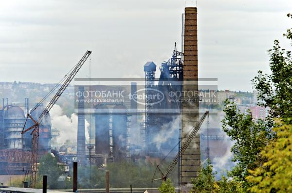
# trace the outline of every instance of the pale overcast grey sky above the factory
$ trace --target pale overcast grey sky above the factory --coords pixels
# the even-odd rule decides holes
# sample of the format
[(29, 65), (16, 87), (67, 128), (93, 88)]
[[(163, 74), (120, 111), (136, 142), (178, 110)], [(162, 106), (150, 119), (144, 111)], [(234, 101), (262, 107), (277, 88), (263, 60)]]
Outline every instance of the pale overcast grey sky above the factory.
[[(193, 0), (198, 7), (199, 78), (219, 90), (252, 91), (269, 73), (267, 50), (292, 27), (291, 0)], [(58, 82), (91, 50), (92, 78), (144, 77), (143, 65), (181, 45), (191, 0), (9, 0), (0, 5), (0, 81)], [(180, 48), (180, 46), (179, 46)], [(76, 78), (89, 77), (90, 63)]]

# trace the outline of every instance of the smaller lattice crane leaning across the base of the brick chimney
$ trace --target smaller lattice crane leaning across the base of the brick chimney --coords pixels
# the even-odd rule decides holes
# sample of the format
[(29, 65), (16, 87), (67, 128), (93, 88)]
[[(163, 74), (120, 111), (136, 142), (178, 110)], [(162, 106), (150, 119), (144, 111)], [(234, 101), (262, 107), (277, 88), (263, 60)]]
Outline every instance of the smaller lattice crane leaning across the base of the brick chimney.
[[(192, 140), (194, 139), (194, 137), (196, 136), (197, 132), (199, 131), (204, 119), (206, 118), (206, 116), (209, 116), (209, 111), (206, 111), (203, 116), (201, 117), (201, 119), (199, 120), (199, 122), (196, 124), (196, 126), (192, 129), (190, 135), (186, 138), (185, 142), (183, 143), (181, 149), (179, 150), (179, 152), (177, 153), (176, 157), (174, 158), (174, 160), (170, 163), (170, 165), (167, 167), (166, 171), (163, 173), (161, 171), (161, 169), (159, 168), (159, 165), (157, 165), (155, 173), (153, 175), (152, 178), (152, 182), (156, 181), (156, 180), (164, 180), (166, 181), (167, 176), (171, 173), (171, 171), (173, 170), (173, 168), (176, 166), (176, 164), (178, 163), (178, 161), (180, 160), (180, 158), (182, 157), (184, 151), (186, 150), (186, 148), (190, 145), (190, 143), (192, 142)], [(154, 179), (156, 171), (160, 172), (161, 177)]]

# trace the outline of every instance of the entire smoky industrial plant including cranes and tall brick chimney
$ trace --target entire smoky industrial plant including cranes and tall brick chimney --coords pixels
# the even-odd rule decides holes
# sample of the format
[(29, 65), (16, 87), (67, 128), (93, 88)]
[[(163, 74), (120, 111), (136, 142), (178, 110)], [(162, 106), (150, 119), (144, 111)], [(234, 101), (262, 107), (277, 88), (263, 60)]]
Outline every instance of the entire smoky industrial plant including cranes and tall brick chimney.
[[(37, 167), (34, 164), (48, 153), (54, 154), (59, 162), (70, 168), (73, 168), (73, 162), (79, 166), (96, 165), (100, 168), (110, 162), (123, 161), (158, 164), (168, 156), (168, 160), (174, 161), (161, 179), (166, 179), (177, 168), (179, 184), (190, 183), (198, 175), (201, 157), (210, 158), (212, 148), (210, 150), (209, 142), (203, 143), (202, 147), (197, 133), (205, 117), (209, 117), (209, 111), (200, 112), (199, 102), (202, 99), (188, 95), (199, 92), (197, 8), (185, 8), (182, 22), (182, 45), (174, 43), (169, 60), (159, 67), (152, 61), (146, 61), (144, 66), (141, 64), (145, 79), (128, 80), (126, 85), (75, 85), (75, 94), (107, 91), (130, 97), (111, 96), (109, 101), (104, 100), (107, 97), (93, 96), (93, 102), (87, 103), (84, 95), (74, 94), (75, 114), (78, 116), (77, 141), (76, 148), (72, 147), (70, 151), (67, 147), (51, 145), (54, 136), (49, 112), (90, 57), (91, 51), (87, 51), (65, 79), (52, 88), (49, 94), (56, 94), (50, 102), (49, 95), (37, 104), (30, 104), (29, 98), (25, 98), (23, 105), (3, 98), (0, 174), (30, 174), (30, 187), (35, 187)], [(156, 74), (160, 76), (155, 77)], [(138, 98), (138, 92), (145, 97)], [(200, 115), (203, 115), (201, 119)], [(86, 143), (85, 122), (88, 117), (93, 120), (90, 122), (90, 131), (93, 132), (90, 132), (90, 140)], [(167, 139), (158, 138), (162, 132), (170, 133)], [(201, 132), (201, 139), (212, 140), (211, 146), (221, 144), (223, 137), (219, 136), (219, 132), (211, 133), (213, 137), (210, 138), (209, 131)], [(215, 157), (217, 151), (211, 155)]]

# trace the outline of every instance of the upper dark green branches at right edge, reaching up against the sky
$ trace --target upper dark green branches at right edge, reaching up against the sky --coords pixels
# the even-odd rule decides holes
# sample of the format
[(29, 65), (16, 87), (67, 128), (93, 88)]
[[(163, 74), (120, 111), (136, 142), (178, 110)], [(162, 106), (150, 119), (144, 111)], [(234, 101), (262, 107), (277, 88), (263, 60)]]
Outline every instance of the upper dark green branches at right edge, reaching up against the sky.
[[(292, 18), (291, 14), (287, 16)], [(284, 36), (292, 44), (292, 29), (288, 29)], [(282, 117), (284, 121), (288, 121), (292, 117), (292, 54), (281, 48), (279, 41), (275, 40), (269, 55), (272, 73), (267, 75), (258, 71), (258, 75), (252, 80), (254, 88), (258, 91), (259, 105), (270, 107), (273, 118)]]

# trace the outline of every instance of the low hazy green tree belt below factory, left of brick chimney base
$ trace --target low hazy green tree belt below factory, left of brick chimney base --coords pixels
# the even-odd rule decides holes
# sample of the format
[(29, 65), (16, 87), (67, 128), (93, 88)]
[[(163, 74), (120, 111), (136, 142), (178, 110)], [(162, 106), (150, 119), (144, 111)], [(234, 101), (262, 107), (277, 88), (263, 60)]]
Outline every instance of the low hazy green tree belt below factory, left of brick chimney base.
[[(172, 160), (171, 160), (172, 161)], [(161, 165), (161, 170), (165, 171), (171, 161), (165, 161)], [(144, 162), (121, 161), (108, 163), (105, 169), (99, 169), (96, 165), (91, 165), (91, 179), (89, 166), (78, 168), (78, 187), (79, 188), (104, 188), (105, 170), (110, 171), (110, 188), (133, 188), (159, 187), (160, 181), (152, 182), (152, 177), (156, 165)], [(155, 177), (161, 177), (158, 176)], [(174, 170), (169, 178), (173, 184), (177, 184), (177, 170)]]

